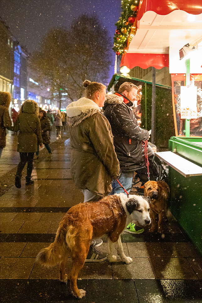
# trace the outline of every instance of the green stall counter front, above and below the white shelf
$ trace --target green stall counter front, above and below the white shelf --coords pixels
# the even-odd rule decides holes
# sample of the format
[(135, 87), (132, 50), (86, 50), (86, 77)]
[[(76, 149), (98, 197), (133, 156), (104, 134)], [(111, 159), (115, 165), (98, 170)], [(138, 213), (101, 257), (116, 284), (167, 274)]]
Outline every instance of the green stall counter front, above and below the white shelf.
[[(202, 167), (201, 137), (171, 137), (169, 151)], [(202, 176), (184, 177), (169, 166), (170, 210), (202, 253)]]

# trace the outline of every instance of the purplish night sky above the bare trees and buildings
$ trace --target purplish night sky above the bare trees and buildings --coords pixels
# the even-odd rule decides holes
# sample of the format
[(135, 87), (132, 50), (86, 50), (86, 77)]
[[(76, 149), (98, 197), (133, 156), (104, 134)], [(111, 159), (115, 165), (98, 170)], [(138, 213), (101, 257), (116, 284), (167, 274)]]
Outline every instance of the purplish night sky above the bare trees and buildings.
[[(83, 13), (97, 14), (104, 28), (113, 36), (120, 17), (121, 0), (0, 0), (0, 17), (28, 52), (39, 49), (41, 39), (52, 27), (70, 28)], [(115, 60), (115, 53), (113, 59)], [(114, 60), (110, 77), (114, 74)]]

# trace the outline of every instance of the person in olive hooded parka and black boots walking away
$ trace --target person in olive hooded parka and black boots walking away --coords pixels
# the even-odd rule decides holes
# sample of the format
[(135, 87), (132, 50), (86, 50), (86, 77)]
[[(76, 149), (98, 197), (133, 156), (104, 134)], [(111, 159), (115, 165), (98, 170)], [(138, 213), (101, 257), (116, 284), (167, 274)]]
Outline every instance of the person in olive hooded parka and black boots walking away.
[(21, 188), (22, 171), (26, 162), (27, 176), (25, 185), (34, 183), (31, 180), (34, 153), (37, 151), (38, 144), (41, 147), (43, 146), (37, 103), (34, 100), (25, 100), (20, 108), (15, 125), (8, 129), (19, 131), (17, 151), (20, 153), (20, 162), (15, 176), (15, 186)]

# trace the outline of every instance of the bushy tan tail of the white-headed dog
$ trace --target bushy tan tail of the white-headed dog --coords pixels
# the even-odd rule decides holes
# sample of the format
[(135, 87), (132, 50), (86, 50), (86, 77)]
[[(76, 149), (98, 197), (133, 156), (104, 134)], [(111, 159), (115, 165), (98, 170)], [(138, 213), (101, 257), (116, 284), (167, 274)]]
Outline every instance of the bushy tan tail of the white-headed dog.
[[(71, 229), (71, 226), (68, 226), (68, 230)], [(56, 238), (49, 247), (43, 248), (38, 255), (36, 256), (36, 262), (41, 263), (44, 266), (51, 267), (60, 263), (64, 257), (70, 252), (69, 247), (66, 244), (66, 233), (67, 229), (64, 228), (64, 225), (60, 225)]]

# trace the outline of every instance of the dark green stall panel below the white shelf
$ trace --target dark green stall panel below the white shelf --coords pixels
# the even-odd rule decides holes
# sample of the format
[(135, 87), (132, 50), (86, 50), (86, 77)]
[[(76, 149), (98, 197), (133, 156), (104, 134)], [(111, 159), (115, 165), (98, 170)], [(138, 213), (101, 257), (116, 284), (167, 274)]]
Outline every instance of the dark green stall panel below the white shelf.
[(185, 178), (169, 167), (170, 211), (202, 253), (202, 176)]

